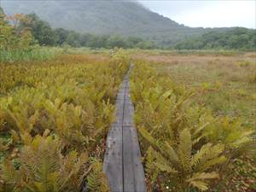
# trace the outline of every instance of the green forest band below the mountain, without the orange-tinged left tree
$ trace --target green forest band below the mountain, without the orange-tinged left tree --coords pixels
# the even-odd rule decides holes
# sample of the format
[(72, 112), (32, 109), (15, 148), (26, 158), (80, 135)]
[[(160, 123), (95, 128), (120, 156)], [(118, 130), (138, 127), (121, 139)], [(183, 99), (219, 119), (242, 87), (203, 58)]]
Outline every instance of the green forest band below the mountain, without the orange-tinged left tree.
[[(3, 9), (0, 8), (1, 13), (4, 15)], [(29, 30), (32, 33), (34, 44), (43, 46), (69, 45), (72, 47), (90, 47), (92, 49), (111, 49), (114, 47), (124, 49), (256, 49), (256, 30), (242, 27), (230, 28), (230, 30), (224, 32), (207, 32), (197, 38), (187, 38), (174, 45), (161, 46), (143, 38), (82, 34), (63, 28), (53, 28), (36, 14), (22, 15), (22, 17), (18, 23), (15, 23), (15, 31)], [(9, 23), (11, 24), (11, 22)]]

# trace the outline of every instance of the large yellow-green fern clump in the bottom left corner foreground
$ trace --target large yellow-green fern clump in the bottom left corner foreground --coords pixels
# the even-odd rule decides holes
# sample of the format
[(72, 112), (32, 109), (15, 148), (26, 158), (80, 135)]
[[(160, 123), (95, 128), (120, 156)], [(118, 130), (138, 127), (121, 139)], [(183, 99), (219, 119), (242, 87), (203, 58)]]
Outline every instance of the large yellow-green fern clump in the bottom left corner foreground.
[(58, 138), (36, 136), (21, 149), (17, 161), (5, 160), (1, 177), (6, 191), (78, 191), (89, 167), (88, 155), (70, 151), (61, 154)]

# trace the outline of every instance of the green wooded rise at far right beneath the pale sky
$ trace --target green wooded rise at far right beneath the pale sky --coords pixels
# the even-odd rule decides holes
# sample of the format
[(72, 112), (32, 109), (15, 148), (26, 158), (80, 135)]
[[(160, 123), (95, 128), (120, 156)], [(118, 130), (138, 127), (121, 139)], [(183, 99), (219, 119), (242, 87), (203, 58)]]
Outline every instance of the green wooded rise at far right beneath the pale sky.
[(256, 30), (235, 27), (225, 32), (207, 32), (197, 38), (188, 38), (174, 49), (256, 49)]

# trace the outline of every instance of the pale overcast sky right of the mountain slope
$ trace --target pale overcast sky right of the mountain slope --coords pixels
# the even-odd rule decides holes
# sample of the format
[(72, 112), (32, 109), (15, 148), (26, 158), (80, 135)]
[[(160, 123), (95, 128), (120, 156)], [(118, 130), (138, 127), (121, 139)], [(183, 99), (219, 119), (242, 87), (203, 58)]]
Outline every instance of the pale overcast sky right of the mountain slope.
[(256, 0), (139, 0), (145, 7), (185, 26), (256, 27)]

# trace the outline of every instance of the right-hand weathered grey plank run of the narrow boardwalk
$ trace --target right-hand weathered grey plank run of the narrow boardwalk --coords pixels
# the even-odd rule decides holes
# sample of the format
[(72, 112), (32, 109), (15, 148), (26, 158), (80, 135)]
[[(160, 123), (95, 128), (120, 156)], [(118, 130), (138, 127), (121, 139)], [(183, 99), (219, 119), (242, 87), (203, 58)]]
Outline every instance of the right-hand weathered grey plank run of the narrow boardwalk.
[(137, 131), (134, 128), (134, 106), (130, 99), (129, 85), (127, 82), (123, 119), (124, 191), (146, 192), (141, 152)]

